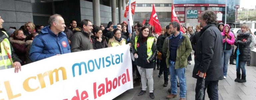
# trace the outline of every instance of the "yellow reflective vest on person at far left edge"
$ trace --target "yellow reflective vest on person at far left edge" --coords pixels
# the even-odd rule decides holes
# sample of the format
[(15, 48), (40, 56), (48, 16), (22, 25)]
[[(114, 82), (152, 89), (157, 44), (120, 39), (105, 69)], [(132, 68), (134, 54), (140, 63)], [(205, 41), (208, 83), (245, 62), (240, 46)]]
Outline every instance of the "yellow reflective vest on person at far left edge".
[[(8, 35), (2, 31), (7, 37)], [(5, 46), (7, 46), (7, 51), (4, 49), (4, 45), (3, 43), (5, 44)], [(7, 68), (12, 68), (12, 62), (11, 60), (9, 59), (8, 55), (7, 55), (7, 52), (9, 52), (10, 56), (12, 54), (12, 51), (11, 51), (11, 47), (10, 47), (10, 42), (8, 40), (8, 38), (5, 38), (1, 43), (0, 43), (0, 46), (1, 46), (1, 53), (0, 53), (0, 70), (1, 69), (7, 69)]]

